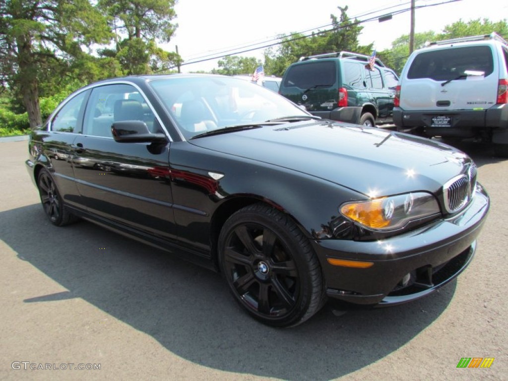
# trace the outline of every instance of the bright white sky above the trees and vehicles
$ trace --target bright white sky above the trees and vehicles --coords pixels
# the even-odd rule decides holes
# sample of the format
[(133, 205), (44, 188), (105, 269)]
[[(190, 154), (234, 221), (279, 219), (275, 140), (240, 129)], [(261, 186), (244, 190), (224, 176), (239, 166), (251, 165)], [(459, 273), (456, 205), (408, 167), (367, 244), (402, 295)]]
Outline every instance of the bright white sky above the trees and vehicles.
[[(448, 3), (448, 4), (447, 4)], [(340, 15), (338, 6), (347, 6), (348, 17), (366, 20), (397, 10), (409, 9), (410, 0), (314, 0), (302, 3), (295, 0), (178, 0), (173, 21), (178, 27), (171, 41), (162, 47), (178, 52), (185, 62), (220, 55), (236, 49), (255, 48), (272, 44), (269, 41), (281, 34), (307, 29), (324, 30), (331, 23), (330, 15)], [(436, 4), (436, 5), (435, 5)], [(435, 5), (435, 6), (432, 6)], [(459, 19), (469, 21), (488, 18), (491, 21), (508, 20), (508, 2), (505, 0), (416, 0), (415, 32), (439, 32)], [(378, 22), (377, 18), (361, 24), (364, 29), (360, 45), (374, 43), (377, 50), (391, 47), (403, 34), (409, 34), (410, 12), (394, 15), (391, 20)], [(269, 42), (268, 42), (269, 41)], [(258, 44), (258, 45), (255, 45)], [(244, 48), (247, 45), (252, 45)], [(243, 49), (242, 49), (243, 48)], [(254, 56), (263, 60), (264, 49), (238, 55)], [(218, 68), (218, 59), (192, 63), (181, 67), (182, 72), (210, 71)], [(269, 73), (268, 73), (269, 74)]]

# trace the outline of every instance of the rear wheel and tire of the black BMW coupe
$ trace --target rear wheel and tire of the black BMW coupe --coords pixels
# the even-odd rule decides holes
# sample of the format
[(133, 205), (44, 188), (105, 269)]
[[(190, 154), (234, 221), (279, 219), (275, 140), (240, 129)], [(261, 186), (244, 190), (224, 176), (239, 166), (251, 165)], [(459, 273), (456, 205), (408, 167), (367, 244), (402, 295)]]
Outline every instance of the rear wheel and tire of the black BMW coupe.
[(42, 207), (51, 224), (65, 226), (76, 220), (76, 217), (63, 204), (56, 184), (46, 169), (41, 169), (39, 172), (37, 187), (39, 188)]

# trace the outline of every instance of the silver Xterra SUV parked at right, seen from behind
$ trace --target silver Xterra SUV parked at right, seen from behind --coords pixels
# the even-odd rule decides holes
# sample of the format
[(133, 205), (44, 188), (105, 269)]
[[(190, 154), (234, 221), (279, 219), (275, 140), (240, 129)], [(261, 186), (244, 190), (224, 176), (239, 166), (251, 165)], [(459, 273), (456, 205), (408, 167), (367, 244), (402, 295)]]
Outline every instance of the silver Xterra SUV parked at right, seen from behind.
[(508, 43), (493, 33), (416, 50), (402, 69), (393, 119), (398, 131), (481, 138), (508, 157)]

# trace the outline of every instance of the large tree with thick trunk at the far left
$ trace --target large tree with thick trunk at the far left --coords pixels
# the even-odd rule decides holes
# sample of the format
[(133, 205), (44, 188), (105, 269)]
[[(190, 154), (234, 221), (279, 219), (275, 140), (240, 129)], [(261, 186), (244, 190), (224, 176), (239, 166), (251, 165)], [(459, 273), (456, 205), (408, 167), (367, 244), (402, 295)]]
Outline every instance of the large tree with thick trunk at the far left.
[(107, 43), (111, 33), (88, 0), (5, 0), (0, 11), (2, 84), (20, 95), (33, 128), (42, 123), (40, 76), (82, 57), (82, 47)]

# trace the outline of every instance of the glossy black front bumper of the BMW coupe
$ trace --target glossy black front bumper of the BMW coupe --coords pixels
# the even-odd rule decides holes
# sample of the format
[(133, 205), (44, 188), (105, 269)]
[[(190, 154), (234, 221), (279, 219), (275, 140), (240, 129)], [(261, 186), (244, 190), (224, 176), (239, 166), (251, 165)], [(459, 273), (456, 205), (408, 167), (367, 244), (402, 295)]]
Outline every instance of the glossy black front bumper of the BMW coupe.
[[(421, 298), (457, 277), (471, 262), (490, 200), (479, 185), (460, 214), (383, 241), (315, 240), (327, 295), (355, 304), (400, 304)], [(371, 262), (334, 266), (328, 259)]]

